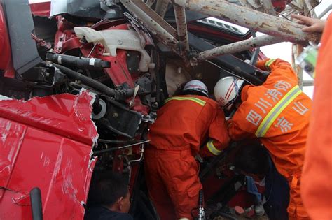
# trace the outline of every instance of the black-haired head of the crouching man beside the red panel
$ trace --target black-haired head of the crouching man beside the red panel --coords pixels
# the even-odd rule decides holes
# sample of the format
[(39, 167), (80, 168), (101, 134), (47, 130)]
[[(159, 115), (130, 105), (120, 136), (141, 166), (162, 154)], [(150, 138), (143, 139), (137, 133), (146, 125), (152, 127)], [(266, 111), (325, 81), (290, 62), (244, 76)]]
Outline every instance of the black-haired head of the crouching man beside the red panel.
[(128, 212), (130, 193), (125, 178), (117, 173), (95, 173), (88, 205), (102, 205), (115, 212)]

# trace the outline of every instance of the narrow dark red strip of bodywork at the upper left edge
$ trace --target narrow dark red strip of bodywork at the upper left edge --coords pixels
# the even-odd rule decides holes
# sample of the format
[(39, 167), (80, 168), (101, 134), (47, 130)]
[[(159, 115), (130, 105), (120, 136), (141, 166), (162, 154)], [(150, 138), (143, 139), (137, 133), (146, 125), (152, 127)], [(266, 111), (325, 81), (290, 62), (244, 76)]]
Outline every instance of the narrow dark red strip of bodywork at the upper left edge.
[[(0, 1), (1, 2), (1, 1)], [(11, 63), (11, 43), (9, 41), (6, 17), (4, 9), (0, 3), (0, 70), (4, 71), (4, 76), (15, 77), (13, 64)]]

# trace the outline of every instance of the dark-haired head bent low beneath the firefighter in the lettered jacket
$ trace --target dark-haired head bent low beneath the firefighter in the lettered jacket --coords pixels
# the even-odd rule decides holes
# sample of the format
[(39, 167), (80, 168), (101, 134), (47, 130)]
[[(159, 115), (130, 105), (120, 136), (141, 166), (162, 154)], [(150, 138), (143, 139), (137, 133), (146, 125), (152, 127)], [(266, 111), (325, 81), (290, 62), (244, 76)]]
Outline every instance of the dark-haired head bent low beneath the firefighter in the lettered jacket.
[(249, 142), (238, 150), (234, 166), (246, 175), (266, 175), (268, 173), (268, 152), (259, 142)]

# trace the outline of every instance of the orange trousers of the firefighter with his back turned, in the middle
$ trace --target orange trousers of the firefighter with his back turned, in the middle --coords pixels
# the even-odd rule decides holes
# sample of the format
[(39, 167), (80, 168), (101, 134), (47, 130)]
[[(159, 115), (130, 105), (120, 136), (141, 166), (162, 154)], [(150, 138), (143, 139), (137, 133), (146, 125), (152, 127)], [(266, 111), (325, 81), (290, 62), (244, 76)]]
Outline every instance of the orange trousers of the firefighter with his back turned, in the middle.
[(144, 168), (148, 192), (162, 220), (193, 219), (202, 189), (199, 164), (191, 150), (146, 150)]

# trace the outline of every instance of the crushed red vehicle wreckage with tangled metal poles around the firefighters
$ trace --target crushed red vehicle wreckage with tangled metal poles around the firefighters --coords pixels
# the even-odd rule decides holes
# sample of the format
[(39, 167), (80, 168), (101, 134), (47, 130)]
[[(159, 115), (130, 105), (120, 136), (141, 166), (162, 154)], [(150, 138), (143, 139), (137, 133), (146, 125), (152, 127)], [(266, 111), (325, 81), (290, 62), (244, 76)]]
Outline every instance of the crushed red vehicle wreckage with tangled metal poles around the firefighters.
[[(318, 41), (277, 17), (289, 3), (0, 0), (0, 219), (83, 219), (103, 170), (127, 177), (134, 219), (158, 219), (142, 168), (156, 111), (191, 79), (261, 85), (263, 45)], [(251, 204), (235, 148), (202, 164), (208, 219)]]

